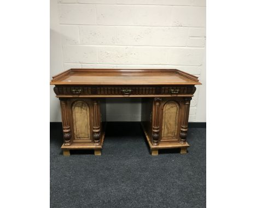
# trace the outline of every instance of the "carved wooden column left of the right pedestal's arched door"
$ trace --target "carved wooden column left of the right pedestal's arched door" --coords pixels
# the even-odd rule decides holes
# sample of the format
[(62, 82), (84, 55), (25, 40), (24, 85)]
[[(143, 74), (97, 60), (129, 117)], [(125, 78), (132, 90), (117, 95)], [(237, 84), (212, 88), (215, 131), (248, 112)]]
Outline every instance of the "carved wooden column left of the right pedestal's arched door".
[(152, 120), (152, 142), (153, 145), (158, 145), (159, 143), (159, 114), (160, 114), (160, 97), (155, 97), (153, 102), (153, 120)]

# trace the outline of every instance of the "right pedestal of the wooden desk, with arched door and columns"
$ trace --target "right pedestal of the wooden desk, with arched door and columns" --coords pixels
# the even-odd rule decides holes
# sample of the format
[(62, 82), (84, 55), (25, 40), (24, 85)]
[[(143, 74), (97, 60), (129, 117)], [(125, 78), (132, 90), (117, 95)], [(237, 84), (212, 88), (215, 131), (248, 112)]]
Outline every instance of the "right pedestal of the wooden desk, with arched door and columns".
[(191, 97), (142, 99), (142, 127), (152, 155), (159, 149), (181, 148), (187, 153), (188, 117)]

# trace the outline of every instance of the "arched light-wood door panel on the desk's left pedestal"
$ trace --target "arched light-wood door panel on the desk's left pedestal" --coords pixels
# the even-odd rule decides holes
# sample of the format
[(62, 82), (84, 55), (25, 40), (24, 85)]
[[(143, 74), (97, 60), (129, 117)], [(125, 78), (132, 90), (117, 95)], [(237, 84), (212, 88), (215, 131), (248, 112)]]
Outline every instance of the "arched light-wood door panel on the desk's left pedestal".
[(73, 136), (77, 142), (91, 142), (90, 105), (85, 100), (72, 104)]

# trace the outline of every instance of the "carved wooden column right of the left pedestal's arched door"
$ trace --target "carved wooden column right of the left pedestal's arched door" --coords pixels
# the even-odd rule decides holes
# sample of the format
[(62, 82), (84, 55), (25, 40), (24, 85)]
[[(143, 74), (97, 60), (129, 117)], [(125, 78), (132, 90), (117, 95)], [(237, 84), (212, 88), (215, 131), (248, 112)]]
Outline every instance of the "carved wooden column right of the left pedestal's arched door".
[(100, 115), (100, 106), (98, 101), (94, 101), (94, 126), (92, 127), (93, 138), (95, 145), (101, 144), (101, 115)]

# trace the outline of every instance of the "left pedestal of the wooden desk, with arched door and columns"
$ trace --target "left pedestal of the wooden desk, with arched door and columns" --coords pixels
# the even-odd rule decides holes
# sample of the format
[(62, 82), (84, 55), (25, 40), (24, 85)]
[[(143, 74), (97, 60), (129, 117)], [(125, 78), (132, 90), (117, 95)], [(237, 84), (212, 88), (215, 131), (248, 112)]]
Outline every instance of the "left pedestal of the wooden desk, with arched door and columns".
[(104, 124), (101, 121), (100, 102), (97, 99), (60, 98), (63, 128), (63, 155), (69, 150), (94, 149), (101, 155)]

